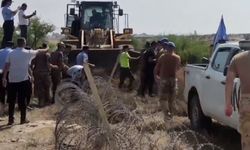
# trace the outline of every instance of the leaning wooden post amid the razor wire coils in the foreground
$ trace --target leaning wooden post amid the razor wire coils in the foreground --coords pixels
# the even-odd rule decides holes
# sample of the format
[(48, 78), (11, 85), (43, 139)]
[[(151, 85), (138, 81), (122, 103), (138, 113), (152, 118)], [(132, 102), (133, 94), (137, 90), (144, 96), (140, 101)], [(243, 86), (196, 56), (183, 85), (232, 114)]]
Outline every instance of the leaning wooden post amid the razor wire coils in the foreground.
[(110, 141), (109, 141), (110, 143), (109, 144), (111, 146), (111, 149), (112, 150), (118, 150), (117, 145), (116, 145), (116, 143), (114, 141), (114, 136), (113, 136), (111, 128), (109, 126), (109, 122), (108, 122), (108, 119), (107, 119), (107, 116), (106, 116), (106, 112), (104, 111), (103, 104), (102, 104), (100, 95), (98, 93), (98, 89), (96, 87), (94, 78), (93, 78), (92, 73), (90, 71), (89, 65), (87, 63), (85, 63), (83, 65), (83, 68), (84, 68), (84, 72), (85, 72), (85, 74), (87, 76), (87, 79), (88, 79), (92, 94), (94, 96), (94, 102), (96, 103), (97, 108), (98, 108), (98, 112), (99, 112), (99, 114), (100, 114), (100, 116), (102, 118), (104, 128), (107, 129), (107, 135), (110, 138)]

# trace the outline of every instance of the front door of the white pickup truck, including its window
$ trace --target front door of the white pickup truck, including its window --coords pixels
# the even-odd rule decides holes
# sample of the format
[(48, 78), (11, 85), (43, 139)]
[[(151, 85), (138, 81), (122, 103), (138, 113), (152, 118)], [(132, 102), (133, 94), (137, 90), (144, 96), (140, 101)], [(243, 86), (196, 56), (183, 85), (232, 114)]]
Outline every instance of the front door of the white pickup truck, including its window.
[(204, 73), (202, 85), (204, 86), (202, 98), (207, 104), (206, 111), (208, 116), (213, 117), (222, 123), (225, 121), (225, 84), (226, 77), (223, 75), (228, 59), (232, 53), (231, 47), (219, 48), (211, 60)]

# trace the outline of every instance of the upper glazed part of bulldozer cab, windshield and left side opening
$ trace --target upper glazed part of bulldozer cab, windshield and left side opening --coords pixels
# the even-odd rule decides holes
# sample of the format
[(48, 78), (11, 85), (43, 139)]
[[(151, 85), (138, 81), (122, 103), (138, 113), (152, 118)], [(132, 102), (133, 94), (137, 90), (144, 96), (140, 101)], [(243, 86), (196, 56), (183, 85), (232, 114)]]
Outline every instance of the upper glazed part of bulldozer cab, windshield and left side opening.
[(113, 2), (87, 2), (67, 5), (66, 27), (80, 19), (81, 29), (113, 29)]

